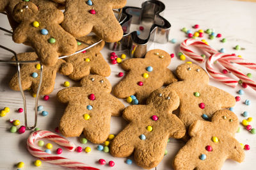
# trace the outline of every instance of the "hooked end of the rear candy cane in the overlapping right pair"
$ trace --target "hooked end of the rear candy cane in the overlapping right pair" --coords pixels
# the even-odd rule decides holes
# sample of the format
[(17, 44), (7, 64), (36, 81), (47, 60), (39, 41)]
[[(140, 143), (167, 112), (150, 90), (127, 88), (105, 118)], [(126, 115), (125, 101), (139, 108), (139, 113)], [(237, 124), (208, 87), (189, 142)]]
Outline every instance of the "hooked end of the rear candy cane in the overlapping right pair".
[(200, 40), (195, 40), (193, 38), (184, 40), (184, 42), (180, 44), (180, 51), (183, 54), (186, 54), (186, 56), (188, 56), (189, 58), (194, 59), (199, 63), (203, 63), (205, 59), (202, 58), (202, 56), (193, 52), (193, 50), (190, 50), (189, 47), (197, 47), (198, 49), (203, 50), (204, 52), (207, 52), (211, 55), (218, 53), (218, 51), (216, 51), (215, 49), (212, 49), (212, 47), (210, 47), (209, 45), (207, 45), (206, 43)]

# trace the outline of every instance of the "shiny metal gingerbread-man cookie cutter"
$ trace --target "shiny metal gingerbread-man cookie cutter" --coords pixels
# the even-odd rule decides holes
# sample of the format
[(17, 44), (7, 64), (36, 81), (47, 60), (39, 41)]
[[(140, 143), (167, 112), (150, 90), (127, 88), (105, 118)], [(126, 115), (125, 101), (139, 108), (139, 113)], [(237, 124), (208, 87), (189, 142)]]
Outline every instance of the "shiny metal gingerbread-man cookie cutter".
[[(164, 4), (160, 1), (145, 1), (141, 4), (141, 8), (125, 6), (122, 12), (122, 22), (120, 22), (124, 36), (118, 42), (108, 43), (109, 49), (128, 49), (131, 58), (142, 58), (147, 52), (148, 42), (168, 42), (171, 24), (159, 15), (164, 8)], [(141, 39), (137, 31), (130, 32), (131, 24), (151, 26), (148, 37)]]

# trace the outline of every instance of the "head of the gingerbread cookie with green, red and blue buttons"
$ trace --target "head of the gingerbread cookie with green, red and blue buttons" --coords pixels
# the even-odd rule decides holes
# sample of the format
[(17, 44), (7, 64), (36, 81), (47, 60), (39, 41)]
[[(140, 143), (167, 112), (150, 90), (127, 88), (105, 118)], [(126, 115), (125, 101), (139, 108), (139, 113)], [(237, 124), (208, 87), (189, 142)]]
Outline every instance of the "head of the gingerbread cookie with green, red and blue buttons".
[(180, 80), (198, 80), (206, 84), (209, 83), (209, 76), (202, 67), (194, 64), (184, 63), (176, 69), (177, 77)]

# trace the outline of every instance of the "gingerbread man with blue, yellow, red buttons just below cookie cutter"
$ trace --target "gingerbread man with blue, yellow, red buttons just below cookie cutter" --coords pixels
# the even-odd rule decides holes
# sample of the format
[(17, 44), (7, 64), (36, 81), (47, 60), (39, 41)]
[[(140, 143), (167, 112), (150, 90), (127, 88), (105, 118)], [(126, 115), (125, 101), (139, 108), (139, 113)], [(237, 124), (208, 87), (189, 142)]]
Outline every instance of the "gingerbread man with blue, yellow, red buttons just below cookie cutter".
[(136, 95), (140, 104), (144, 103), (152, 91), (177, 81), (172, 71), (166, 68), (170, 62), (170, 54), (159, 49), (148, 51), (145, 58), (123, 61), (121, 66), (128, 73), (116, 84), (113, 94), (118, 98)]

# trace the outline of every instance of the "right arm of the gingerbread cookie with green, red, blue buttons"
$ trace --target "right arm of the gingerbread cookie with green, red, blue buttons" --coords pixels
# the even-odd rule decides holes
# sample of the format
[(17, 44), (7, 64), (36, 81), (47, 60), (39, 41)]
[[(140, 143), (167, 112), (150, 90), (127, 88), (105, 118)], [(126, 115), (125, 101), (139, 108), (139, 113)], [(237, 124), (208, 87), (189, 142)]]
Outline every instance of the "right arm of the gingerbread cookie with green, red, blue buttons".
[(214, 101), (221, 104), (220, 109), (227, 109), (236, 105), (236, 99), (226, 91), (222, 89), (209, 86), (209, 91), (214, 91)]

